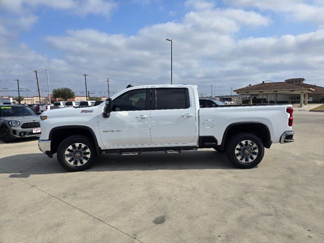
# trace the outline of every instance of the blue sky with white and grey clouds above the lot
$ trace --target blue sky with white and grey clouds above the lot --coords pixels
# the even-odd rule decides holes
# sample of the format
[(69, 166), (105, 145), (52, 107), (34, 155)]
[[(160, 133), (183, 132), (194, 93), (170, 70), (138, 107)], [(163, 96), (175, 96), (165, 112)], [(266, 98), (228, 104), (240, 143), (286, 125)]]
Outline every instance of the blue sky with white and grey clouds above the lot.
[[(91, 96), (170, 83), (230, 94), (262, 80), (324, 86), (324, 0), (0, 0), (0, 95), (69, 87)], [(28, 90), (28, 91), (27, 91)]]

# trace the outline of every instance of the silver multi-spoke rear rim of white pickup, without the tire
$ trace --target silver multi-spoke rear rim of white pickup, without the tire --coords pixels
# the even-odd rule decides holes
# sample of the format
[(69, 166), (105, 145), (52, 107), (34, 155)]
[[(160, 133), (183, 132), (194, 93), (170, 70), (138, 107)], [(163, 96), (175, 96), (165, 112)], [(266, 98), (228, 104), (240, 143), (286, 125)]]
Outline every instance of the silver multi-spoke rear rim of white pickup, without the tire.
[(235, 148), (235, 156), (242, 163), (251, 163), (258, 157), (258, 146), (251, 140), (239, 142)]

